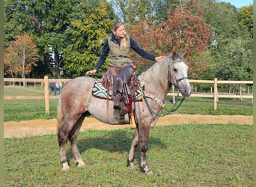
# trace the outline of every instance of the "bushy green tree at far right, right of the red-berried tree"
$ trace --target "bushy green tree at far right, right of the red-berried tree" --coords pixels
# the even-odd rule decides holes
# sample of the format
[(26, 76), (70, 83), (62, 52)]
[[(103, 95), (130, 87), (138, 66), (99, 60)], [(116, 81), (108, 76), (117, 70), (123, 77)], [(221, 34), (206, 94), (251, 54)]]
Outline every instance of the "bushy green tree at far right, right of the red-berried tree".
[(204, 18), (213, 27), (209, 49), (214, 76), (222, 80), (251, 80), (252, 37), (249, 27), (241, 25), (240, 13), (231, 4), (210, 0), (204, 1), (206, 4), (211, 7), (210, 11), (204, 12)]

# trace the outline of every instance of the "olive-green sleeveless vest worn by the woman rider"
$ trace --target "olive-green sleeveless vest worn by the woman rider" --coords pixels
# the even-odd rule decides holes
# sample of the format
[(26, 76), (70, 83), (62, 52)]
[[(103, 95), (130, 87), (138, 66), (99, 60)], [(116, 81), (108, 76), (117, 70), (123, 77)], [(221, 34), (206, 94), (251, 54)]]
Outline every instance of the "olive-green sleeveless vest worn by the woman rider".
[(132, 60), (129, 58), (131, 52), (131, 44), (129, 42), (129, 36), (127, 37), (127, 48), (124, 49), (124, 52), (120, 51), (119, 44), (112, 39), (108, 38), (109, 42), (109, 65), (114, 67), (123, 67), (124, 64), (132, 64)]

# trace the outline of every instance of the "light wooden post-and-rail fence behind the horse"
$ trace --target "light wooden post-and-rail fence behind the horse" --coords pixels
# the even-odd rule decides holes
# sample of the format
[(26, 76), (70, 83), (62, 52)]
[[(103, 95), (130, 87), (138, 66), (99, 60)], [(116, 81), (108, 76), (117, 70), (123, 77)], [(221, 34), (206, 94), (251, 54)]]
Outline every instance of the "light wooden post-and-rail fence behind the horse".
[[(43, 82), (44, 87), (44, 96), (4, 96), (4, 99), (44, 99), (45, 100), (45, 109), (46, 114), (49, 114), (49, 99), (58, 99), (58, 96), (49, 95), (49, 82), (68, 82), (70, 79), (48, 79), (48, 76), (45, 76), (44, 79), (11, 79), (4, 78), (4, 82)], [(218, 81), (214, 80), (189, 80), (190, 83), (204, 83), (204, 84), (213, 84), (213, 92), (210, 94), (201, 94), (201, 93), (192, 93), (191, 96), (197, 97), (211, 97), (213, 98), (213, 108), (217, 109), (217, 102), (219, 98), (238, 98), (238, 99), (252, 99), (253, 94), (244, 94), (242, 88), (239, 90), (239, 94), (219, 94), (218, 93), (218, 84), (247, 84), (253, 85), (253, 81)], [(168, 93), (168, 96), (177, 96), (177, 93), (171, 92)]]

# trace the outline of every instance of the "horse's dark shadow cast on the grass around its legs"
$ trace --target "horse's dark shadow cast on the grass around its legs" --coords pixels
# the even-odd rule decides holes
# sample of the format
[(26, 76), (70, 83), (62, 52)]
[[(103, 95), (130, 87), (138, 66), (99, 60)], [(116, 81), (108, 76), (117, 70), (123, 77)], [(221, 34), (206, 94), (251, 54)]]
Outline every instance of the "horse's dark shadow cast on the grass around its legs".
[[(80, 138), (77, 141), (77, 146), (79, 148), (79, 152), (84, 153), (86, 150), (97, 149), (97, 150), (106, 150), (109, 153), (129, 153), (129, 149), (132, 144), (133, 132), (129, 132), (127, 129), (118, 129), (113, 131), (102, 131), (97, 133), (97, 137), (90, 137), (90, 132), (83, 132), (79, 134)], [(166, 144), (164, 144), (160, 138), (149, 137), (148, 143), (150, 144), (147, 150), (153, 149), (154, 147), (160, 147), (162, 149), (166, 148)], [(73, 158), (72, 150), (69, 146), (69, 150), (67, 151), (67, 160)], [(137, 153), (139, 150), (139, 145), (136, 149)], [(136, 153), (135, 153), (136, 154)]]

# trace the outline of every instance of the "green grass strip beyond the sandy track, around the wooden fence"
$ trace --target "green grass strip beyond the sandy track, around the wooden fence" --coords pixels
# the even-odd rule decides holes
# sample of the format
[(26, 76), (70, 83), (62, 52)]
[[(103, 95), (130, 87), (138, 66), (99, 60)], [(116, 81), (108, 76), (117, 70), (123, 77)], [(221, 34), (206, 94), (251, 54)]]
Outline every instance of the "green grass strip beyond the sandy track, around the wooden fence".
[[(4, 96), (38, 96), (43, 95), (38, 88), (4, 87)], [(166, 108), (172, 108), (171, 96), (166, 99)], [(43, 99), (4, 100), (4, 122), (11, 120), (53, 119), (57, 116), (58, 99), (49, 100), (50, 114), (45, 114)], [(166, 112), (163, 111), (163, 114)], [(213, 110), (212, 98), (186, 98), (174, 114), (213, 114), (213, 115), (252, 115), (252, 99), (243, 102), (238, 99), (219, 99), (218, 109)]]

